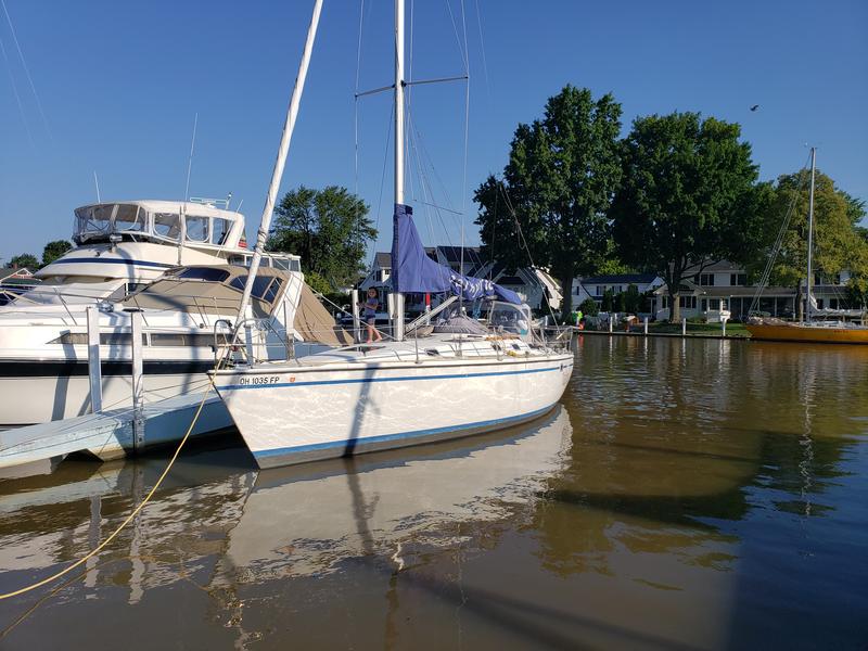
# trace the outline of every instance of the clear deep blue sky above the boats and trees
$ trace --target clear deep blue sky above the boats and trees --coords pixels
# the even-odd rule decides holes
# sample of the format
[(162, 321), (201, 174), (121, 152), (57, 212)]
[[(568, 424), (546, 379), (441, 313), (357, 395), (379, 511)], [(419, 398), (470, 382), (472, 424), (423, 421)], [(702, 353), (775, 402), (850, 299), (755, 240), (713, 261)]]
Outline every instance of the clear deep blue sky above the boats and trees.
[[(181, 199), (196, 115), (190, 195), (231, 192), (255, 237), (312, 0), (3, 2), (0, 261), (69, 238), (94, 173), (103, 201)], [(469, 85), (410, 98), (408, 203), (426, 244), (478, 242), (473, 190), (566, 84), (612, 92), (624, 133), (673, 111), (737, 122), (762, 179), (816, 145), (818, 167), (868, 200), (868, 2), (407, 0), (407, 12), (410, 78), (462, 75), (469, 52)], [(380, 250), (391, 97), (354, 93), (391, 84), (393, 21), (387, 0), (326, 0), (281, 186), (358, 192)]]

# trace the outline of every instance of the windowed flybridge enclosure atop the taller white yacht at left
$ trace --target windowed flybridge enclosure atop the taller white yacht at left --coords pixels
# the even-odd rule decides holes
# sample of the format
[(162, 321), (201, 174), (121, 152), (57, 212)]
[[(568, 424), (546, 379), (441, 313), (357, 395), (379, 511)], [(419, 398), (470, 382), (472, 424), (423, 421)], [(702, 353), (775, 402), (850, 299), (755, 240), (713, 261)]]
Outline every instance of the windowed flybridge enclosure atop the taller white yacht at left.
[(79, 245), (129, 240), (237, 247), (244, 230), (239, 213), (187, 202), (94, 204), (77, 208), (75, 217), (73, 240)]

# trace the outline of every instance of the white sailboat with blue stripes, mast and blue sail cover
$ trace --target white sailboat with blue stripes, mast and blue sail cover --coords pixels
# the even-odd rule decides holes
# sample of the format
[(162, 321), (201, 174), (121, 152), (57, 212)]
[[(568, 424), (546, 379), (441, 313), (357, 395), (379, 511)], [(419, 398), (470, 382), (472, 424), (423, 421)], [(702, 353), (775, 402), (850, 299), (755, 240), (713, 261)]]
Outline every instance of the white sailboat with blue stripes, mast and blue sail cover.
[[(317, 9), (312, 29), (316, 17)], [(299, 75), (299, 81), (303, 78)], [(217, 392), (260, 468), (467, 436), (529, 421), (554, 407), (572, 374), (569, 346), (556, 348), (534, 332), (531, 310), (514, 292), (461, 276), (425, 255), (412, 207), (405, 203), (407, 84), (404, 0), (395, 0), (393, 339), (214, 371)], [(268, 232), (269, 203), (283, 168), (288, 128), (291, 132), (294, 124), (292, 111), (291, 104), (257, 251)], [(254, 271), (255, 264), (254, 256)], [(423, 315), (405, 327), (408, 293), (452, 296), (438, 306), (438, 314)], [(474, 301), (486, 302), (487, 326), (463, 314), (464, 302)]]

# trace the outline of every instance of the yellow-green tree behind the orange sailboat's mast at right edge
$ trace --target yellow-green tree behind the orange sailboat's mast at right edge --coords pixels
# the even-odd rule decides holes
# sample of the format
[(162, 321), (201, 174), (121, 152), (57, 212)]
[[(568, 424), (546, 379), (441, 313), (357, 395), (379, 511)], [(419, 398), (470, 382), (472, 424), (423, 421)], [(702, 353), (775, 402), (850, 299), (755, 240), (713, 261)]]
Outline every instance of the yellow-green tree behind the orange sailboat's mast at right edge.
[[(764, 214), (766, 255), (757, 258), (755, 267), (765, 267), (773, 255), (779, 234), (780, 250), (771, 266), (769, 283), (795, 288), (796, 315), (804, 318), (803, 284), (807, 276), (807, 229), (810, 175), (808, 170), (778, 177), (773, 199)], [(780, 233), (789, 215), (787, 229)], [(814, 256), (813, 270), (826, 277), (851, 272), (851, 297), (858, 302), (860, 290), (868, 281), (868, 242), (861, 237), (859, 220), (865, 204), (838, 189), (834, 181), (817, 170), (814, 180)], [(813, 282), (813, 280), (812, 280)]]

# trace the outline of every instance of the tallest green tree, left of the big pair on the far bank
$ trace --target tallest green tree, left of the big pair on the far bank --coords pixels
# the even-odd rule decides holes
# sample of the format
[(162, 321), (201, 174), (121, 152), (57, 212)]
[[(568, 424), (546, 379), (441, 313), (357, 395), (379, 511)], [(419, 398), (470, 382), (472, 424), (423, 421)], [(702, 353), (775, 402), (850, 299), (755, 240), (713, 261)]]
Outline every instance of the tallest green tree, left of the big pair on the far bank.
[(595, 101), (588, 89), (566, 86), (542, 119), (519, 125), (502, 178), (489, 176), (474, 195), (483, 255), (513, 269), (547, 267), (561, 283), (564, 320), (573, 279), (593, 272), (610, 250), (620, 117), (611, 94)]

